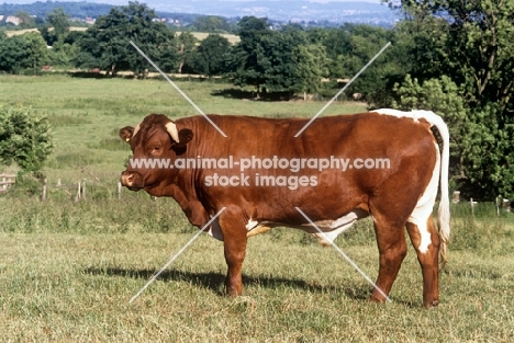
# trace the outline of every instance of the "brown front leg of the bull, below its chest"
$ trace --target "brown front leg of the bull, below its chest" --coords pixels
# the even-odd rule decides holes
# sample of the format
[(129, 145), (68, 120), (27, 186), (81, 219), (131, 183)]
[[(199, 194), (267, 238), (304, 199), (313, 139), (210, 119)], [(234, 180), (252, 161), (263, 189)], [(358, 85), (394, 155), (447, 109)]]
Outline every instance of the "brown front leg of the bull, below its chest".
[(230, 214), (228, 209), (220, 216), (225, 261), (228, 267), (225, 285), (230, 296), (239, 296), (243, 290), (242, 272), (246, 253), (246, 229), (239, 218), (241, 216)]

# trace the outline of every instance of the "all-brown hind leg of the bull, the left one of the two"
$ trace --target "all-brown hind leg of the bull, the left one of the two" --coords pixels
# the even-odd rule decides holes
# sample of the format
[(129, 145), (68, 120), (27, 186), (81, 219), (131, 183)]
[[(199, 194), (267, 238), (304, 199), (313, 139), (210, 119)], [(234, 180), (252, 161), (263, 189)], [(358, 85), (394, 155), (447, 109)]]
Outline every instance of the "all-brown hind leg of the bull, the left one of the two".
[[(389, 296), (402, 261), (406, 255), (405, 232), (403, 225), (390, 225), (384, 220), (378, 220), (375, 216), (373, 218), (380, 254), (379, 275), (376, 285)], [(373, 288), (370, 300), (383, 302), (386, 298), (377, 288)]]

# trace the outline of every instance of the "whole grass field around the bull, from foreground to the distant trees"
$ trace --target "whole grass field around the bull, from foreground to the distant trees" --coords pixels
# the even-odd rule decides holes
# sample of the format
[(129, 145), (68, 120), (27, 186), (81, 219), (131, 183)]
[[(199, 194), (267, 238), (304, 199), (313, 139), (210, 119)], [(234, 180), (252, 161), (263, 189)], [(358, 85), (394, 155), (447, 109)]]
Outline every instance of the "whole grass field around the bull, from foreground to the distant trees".
[[(324, 105), (213, 95), (230, 88), (224, 83), (178, 84), (206, 113), (308, 117)], [(375, 305), (367, 301), (370, 286), (336, 251), (291, 229), (249, 240), (242, 297), (223, 296), (223, 245), (200, 236), (130, 305), (197, 230), (172, 199), (128, 191), (118, 199), (116, 182), (130, 155), (118, 129), (150, 112), (177, 118), (195, 114), (194, 108), (164, 81), (65, 76), (0, 77), (0, 104), (47, 115), (56, 139), (44, 171), (48, 201), (23, 186), (0, 195), (2, 342), (514, 340), (513, 216), (480, 211), (473, 219), (466, 205), (452, 207), (450, 262), (435, 310), (422, 307), (412, 248), (393, 286), (393, 302)], [(361, 110), (337, 102), (326, 114)], [(78, 181), (86, 181), (88, 192), (75, 203)], [(369, 220), (336, 243), (377, 276)]]

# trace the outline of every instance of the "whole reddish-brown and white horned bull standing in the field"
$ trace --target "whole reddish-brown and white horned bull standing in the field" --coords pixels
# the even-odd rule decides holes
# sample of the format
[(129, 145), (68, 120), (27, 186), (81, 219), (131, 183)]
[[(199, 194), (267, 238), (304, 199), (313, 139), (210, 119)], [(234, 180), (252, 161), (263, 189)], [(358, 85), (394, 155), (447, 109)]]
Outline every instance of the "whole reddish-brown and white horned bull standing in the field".
[[(124, 186), (174, 197), (199, 228), (224, 241), (226, 287), (242, 293), (247, 238), (276, 226), (333, 241), (371, 216), (380, 253), (376, 285), (389, 295), (406, 254), (404, 228), (423, 272), (423, 304), (439, 302), (438, 265), (449, 239), (448, 129), (432, 112), (378, 110), (306, 119), (150, 114), (120, 130), (133, 158)], [(443, 152), (432, 133), (443, 138)], [(437, 231), (433, 207), (440, 183)], [(317, 233), (300, 208), (326, 236)], [(439, 261), (440, 254), (440, 261)], [(373, 289), (370, 299), (384, 301)]]

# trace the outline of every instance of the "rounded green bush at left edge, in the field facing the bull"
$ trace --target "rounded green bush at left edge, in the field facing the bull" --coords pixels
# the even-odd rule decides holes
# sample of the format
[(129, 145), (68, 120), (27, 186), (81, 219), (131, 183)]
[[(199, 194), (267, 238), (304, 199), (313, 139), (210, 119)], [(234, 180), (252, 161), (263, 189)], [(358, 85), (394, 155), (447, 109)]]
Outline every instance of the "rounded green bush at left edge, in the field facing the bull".
[(0, 161), (38, 171), (53, 149), (48, 119), (30, 108), (0, 107)]

